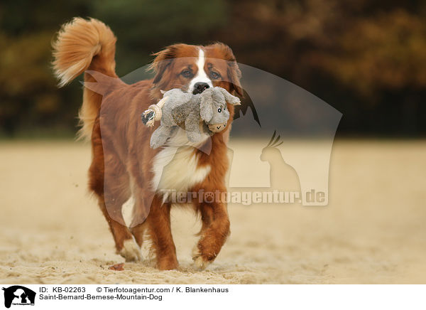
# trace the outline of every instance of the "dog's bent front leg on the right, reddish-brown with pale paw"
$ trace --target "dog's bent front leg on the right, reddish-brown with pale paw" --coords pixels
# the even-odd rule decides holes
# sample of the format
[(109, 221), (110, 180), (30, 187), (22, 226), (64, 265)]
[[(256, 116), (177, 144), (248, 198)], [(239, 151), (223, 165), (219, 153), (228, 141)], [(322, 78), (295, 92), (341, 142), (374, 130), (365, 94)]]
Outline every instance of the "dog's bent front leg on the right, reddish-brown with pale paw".
[(202, 218), (200, 241), (192, 251), (192, 259), (198, 268), (204, 269), (214, 261), (229, 236), (229, 217), (226, 203), (203, 201), (198, 205)]

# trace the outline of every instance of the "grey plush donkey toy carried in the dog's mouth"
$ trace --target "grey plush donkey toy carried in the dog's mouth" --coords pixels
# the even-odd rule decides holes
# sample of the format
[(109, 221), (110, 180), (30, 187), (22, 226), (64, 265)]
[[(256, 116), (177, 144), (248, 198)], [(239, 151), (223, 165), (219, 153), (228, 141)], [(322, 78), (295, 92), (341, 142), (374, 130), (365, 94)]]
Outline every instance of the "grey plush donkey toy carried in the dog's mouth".
[(148, 127), (160, 120), (160, 127), (151, 135), (151, 148), (163, 146), (178, 127), (185, 129), (188, 141), (193, 143), (202, 141), (202, 131), (210, 135), (222, 132), (229, 119), (226, 102), (240, 105), (239, 98), (222, 87), (207, 88), (197, 95), (178, 88), (164, 92), (163, 99), (141, 115)]

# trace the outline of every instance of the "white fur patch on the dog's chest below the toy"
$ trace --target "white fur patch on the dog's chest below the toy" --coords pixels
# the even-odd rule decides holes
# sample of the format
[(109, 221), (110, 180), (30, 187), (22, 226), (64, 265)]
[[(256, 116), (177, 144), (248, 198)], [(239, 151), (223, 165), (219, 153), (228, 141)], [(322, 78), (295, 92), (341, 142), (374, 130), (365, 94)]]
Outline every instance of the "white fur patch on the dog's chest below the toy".
[[(186, 141), (186, 142), (185, 142)], [(192, 186), (204, 181), (210, 166), (198, 166), (198, 158), (192, 146), (187, 143), (185, 131), (179, 129), (153, 160), (153, 188), (158, 192), (188, 191)]]

